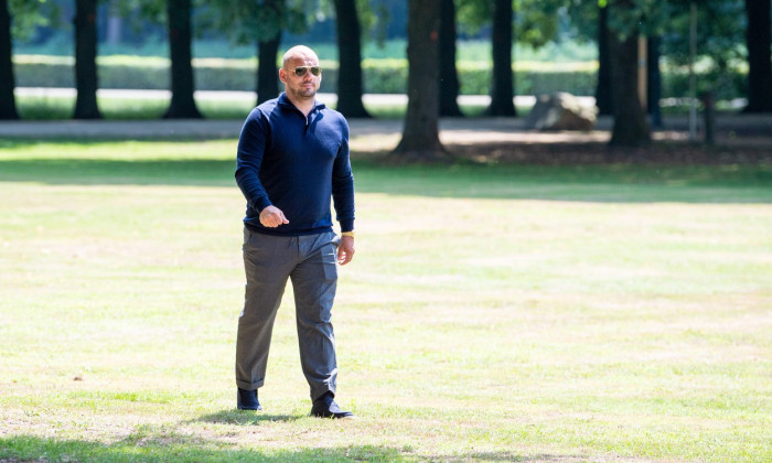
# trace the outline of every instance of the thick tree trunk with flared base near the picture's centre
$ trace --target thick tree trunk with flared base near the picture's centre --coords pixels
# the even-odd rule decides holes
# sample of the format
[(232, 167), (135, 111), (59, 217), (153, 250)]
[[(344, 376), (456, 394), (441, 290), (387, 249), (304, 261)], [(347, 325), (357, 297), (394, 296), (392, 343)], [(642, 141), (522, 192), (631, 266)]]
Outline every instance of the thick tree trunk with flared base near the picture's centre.
[(408, 104), (403, 139), (393, 155), (401, 161), (448, 158), (439, 138), (439, 26), (436, 0), (408, 0)]

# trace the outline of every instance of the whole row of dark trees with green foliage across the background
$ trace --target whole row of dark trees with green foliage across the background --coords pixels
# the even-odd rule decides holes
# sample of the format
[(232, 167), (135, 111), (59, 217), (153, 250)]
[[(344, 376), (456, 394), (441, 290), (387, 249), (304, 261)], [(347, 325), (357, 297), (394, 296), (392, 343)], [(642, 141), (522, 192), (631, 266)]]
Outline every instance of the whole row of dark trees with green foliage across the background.
[[(12, 37), (29, 36), (46, 21), (56, 25), (52, 18), (63, 9), (73, 17), (77, 89), (74, 118), (101, 117), (96, 99), (98, 29), (104, 28), (99, 23), (99, 3), (100, 0), (0, 0), (0, 118), (19, 117), (13, 96)], [(165, 24), (172, 90), (168, 118), (201, 117), (193, 99), (191, 43), (195, 34), (225, 36), (232, 43), (255, 46), (256, 90), (261, 103), (278, 93), (275, 64), (282, 34), (307, 31), (320, 11), (334, 18), (340, 57), (337, 108), (349, 117), (368, 117), (362, 105), (363, 36), (373, 31), (380, 36), (388, 34), (404, 14), (410, 103), (400, 147), (421, 147), (423, 152), (441, 155), (442, 149), (436, 141), (437, 118), (461, 116), (455, 103), (455, 41), (460, 33), (490, 31), (493, 65), (486, 112), (491, 116), (516, 116), (514, 42), (540, 46), (558, 33), (596, 42), (598, 106), (601, 114), (612, 114), (620, 122), (614, 123), (612, 143), (637, 144), (648, 140), (644, 106), (650, 110), (657, 106), (660, 57), (675, 63), (688, 61), (693, 4), (698, 14), (699, 54), (716, 69), (714, 75), (720, 78), (721, 69), (731, 63), (746, 62), (746, 110), (772, 111), (771, 0), (127, 0), (110, 8), (117, 9), (114, 14), (133, 14), (140, 23)], [(397, 18), (389, 21), (389, 12)], [(642, 105), (637, 98), (640, 36), (648, 39), (648, 105)], [(414, 137), (414, 131), (423, 136)], [(406, 141), (411, 138), (417, 141)]]

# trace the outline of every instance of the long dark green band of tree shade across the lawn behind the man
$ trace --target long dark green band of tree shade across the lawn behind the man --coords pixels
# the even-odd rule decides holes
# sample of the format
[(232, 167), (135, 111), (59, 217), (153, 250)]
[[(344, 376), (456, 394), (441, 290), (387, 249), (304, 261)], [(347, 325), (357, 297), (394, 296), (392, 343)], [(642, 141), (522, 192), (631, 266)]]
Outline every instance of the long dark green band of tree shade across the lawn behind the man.
[[(234, 160), (12, 159), (0, 182), (236, 189)], [(591, 203), (772, 203), (772, 165), (386, 166), (354, 161), (356, 191), (394, 196)]]

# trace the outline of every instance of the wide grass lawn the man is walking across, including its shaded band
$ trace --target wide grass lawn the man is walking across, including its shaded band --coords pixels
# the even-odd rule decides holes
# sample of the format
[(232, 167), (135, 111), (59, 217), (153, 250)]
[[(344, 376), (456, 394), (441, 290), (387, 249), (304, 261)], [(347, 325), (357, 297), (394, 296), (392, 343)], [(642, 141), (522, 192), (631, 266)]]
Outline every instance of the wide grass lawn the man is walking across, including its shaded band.
[(0, 141), (0, 461), (772, 459), (770, 166), (354, 153), (336, 422), (289, 290), (235, 410), (234, 151)]

